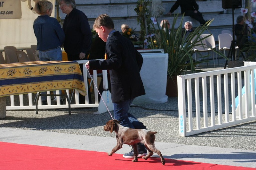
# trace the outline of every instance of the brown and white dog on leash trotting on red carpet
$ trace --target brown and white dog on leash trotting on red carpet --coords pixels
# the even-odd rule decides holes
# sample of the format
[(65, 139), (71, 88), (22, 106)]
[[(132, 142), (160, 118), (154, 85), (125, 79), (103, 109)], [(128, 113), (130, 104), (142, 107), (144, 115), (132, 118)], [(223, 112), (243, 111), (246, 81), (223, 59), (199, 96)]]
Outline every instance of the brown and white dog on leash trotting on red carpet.
[(115, 148), (112, 149), (111, 152), (108, 153), (108, 156), (113, 155), (113, 153), (121, 149), (124, 143), (133, 146), (134, 159), (132, 160), (132, 162), (138, 162), (137, 143), (140, 142), (143, 143), (148, 149), (148, 155), (142, 157), (143, 159), (147, 160), (153, 155), (153, 152), (155, 152), (161, 158), (162, 164), (165, 164), (163, 155), (155, 147), (155, 134), (157, 132), (152, 132), (146, 129), (126, 128), (120, 125), (118, 120), (109, 120), (104, 126), (104, 130), (110, 131), (110, 133), (112, 133), (113, 131), (116, 132), (117, 145)]

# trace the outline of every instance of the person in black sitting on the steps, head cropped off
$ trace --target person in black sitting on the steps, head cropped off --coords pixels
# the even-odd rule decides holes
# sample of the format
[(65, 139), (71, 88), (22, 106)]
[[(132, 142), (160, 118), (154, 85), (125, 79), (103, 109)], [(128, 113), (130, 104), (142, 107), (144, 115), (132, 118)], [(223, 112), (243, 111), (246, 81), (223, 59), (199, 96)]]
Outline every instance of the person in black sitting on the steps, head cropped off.
[(184, 16), (190, 16), (191, 18), (196, 19), (201, 25), (205, 24), (206, 20), (204, 20), (202, 13), (198, 11), (199, 6), (196, 3), (196, 0), (177, 0), (167, 14), (172, 15), (179, 6), (181, 13), (184, 13)]

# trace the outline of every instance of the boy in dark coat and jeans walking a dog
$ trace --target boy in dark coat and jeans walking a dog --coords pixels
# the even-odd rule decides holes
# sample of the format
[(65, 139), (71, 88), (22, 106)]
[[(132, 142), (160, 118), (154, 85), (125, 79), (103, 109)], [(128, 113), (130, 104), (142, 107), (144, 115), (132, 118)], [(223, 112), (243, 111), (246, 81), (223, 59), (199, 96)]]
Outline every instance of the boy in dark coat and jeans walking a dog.
[[(133, 99), (145, 95), (140, 78), (143, 58), (132, 42), (115, 31), (114, 27), (113, 20), (107, 14), (101, 14), (95, 19), (93, 29), (107, 42), (105, 60), (88, 61), (86, 68), (109, 70), (114, 118), (124, 127), (146, 129), (143, 123), (128, 112)], [(141, 143), (138, 143), (138, 152), (138, 157), (147, 155), (147, 150)], [(124, 154), (124, 158), (134, 158), (133, 150)]]

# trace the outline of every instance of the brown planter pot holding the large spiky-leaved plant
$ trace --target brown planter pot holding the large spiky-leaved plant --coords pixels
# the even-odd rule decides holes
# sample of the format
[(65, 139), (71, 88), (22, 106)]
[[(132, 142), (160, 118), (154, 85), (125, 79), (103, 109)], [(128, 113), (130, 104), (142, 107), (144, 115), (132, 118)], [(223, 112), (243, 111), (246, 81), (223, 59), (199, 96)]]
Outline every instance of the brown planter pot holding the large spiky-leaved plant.
[(166, 95), (168, 97), (178, 97), (177, 76), (167, 76)]

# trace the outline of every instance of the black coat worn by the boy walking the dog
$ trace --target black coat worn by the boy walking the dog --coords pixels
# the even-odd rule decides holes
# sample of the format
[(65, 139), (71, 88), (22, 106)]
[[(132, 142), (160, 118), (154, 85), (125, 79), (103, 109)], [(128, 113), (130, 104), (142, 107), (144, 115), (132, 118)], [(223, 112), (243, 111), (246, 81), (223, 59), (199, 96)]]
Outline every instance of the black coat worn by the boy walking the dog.
[(90, 69), (109, 70), (112, 102), (144, 95), (145, 90), (140, 78), (143, 58), (132, 42), (116, 31), (108, 37), (106, 54), (107, 59), (104, 61), (90, 61)]

